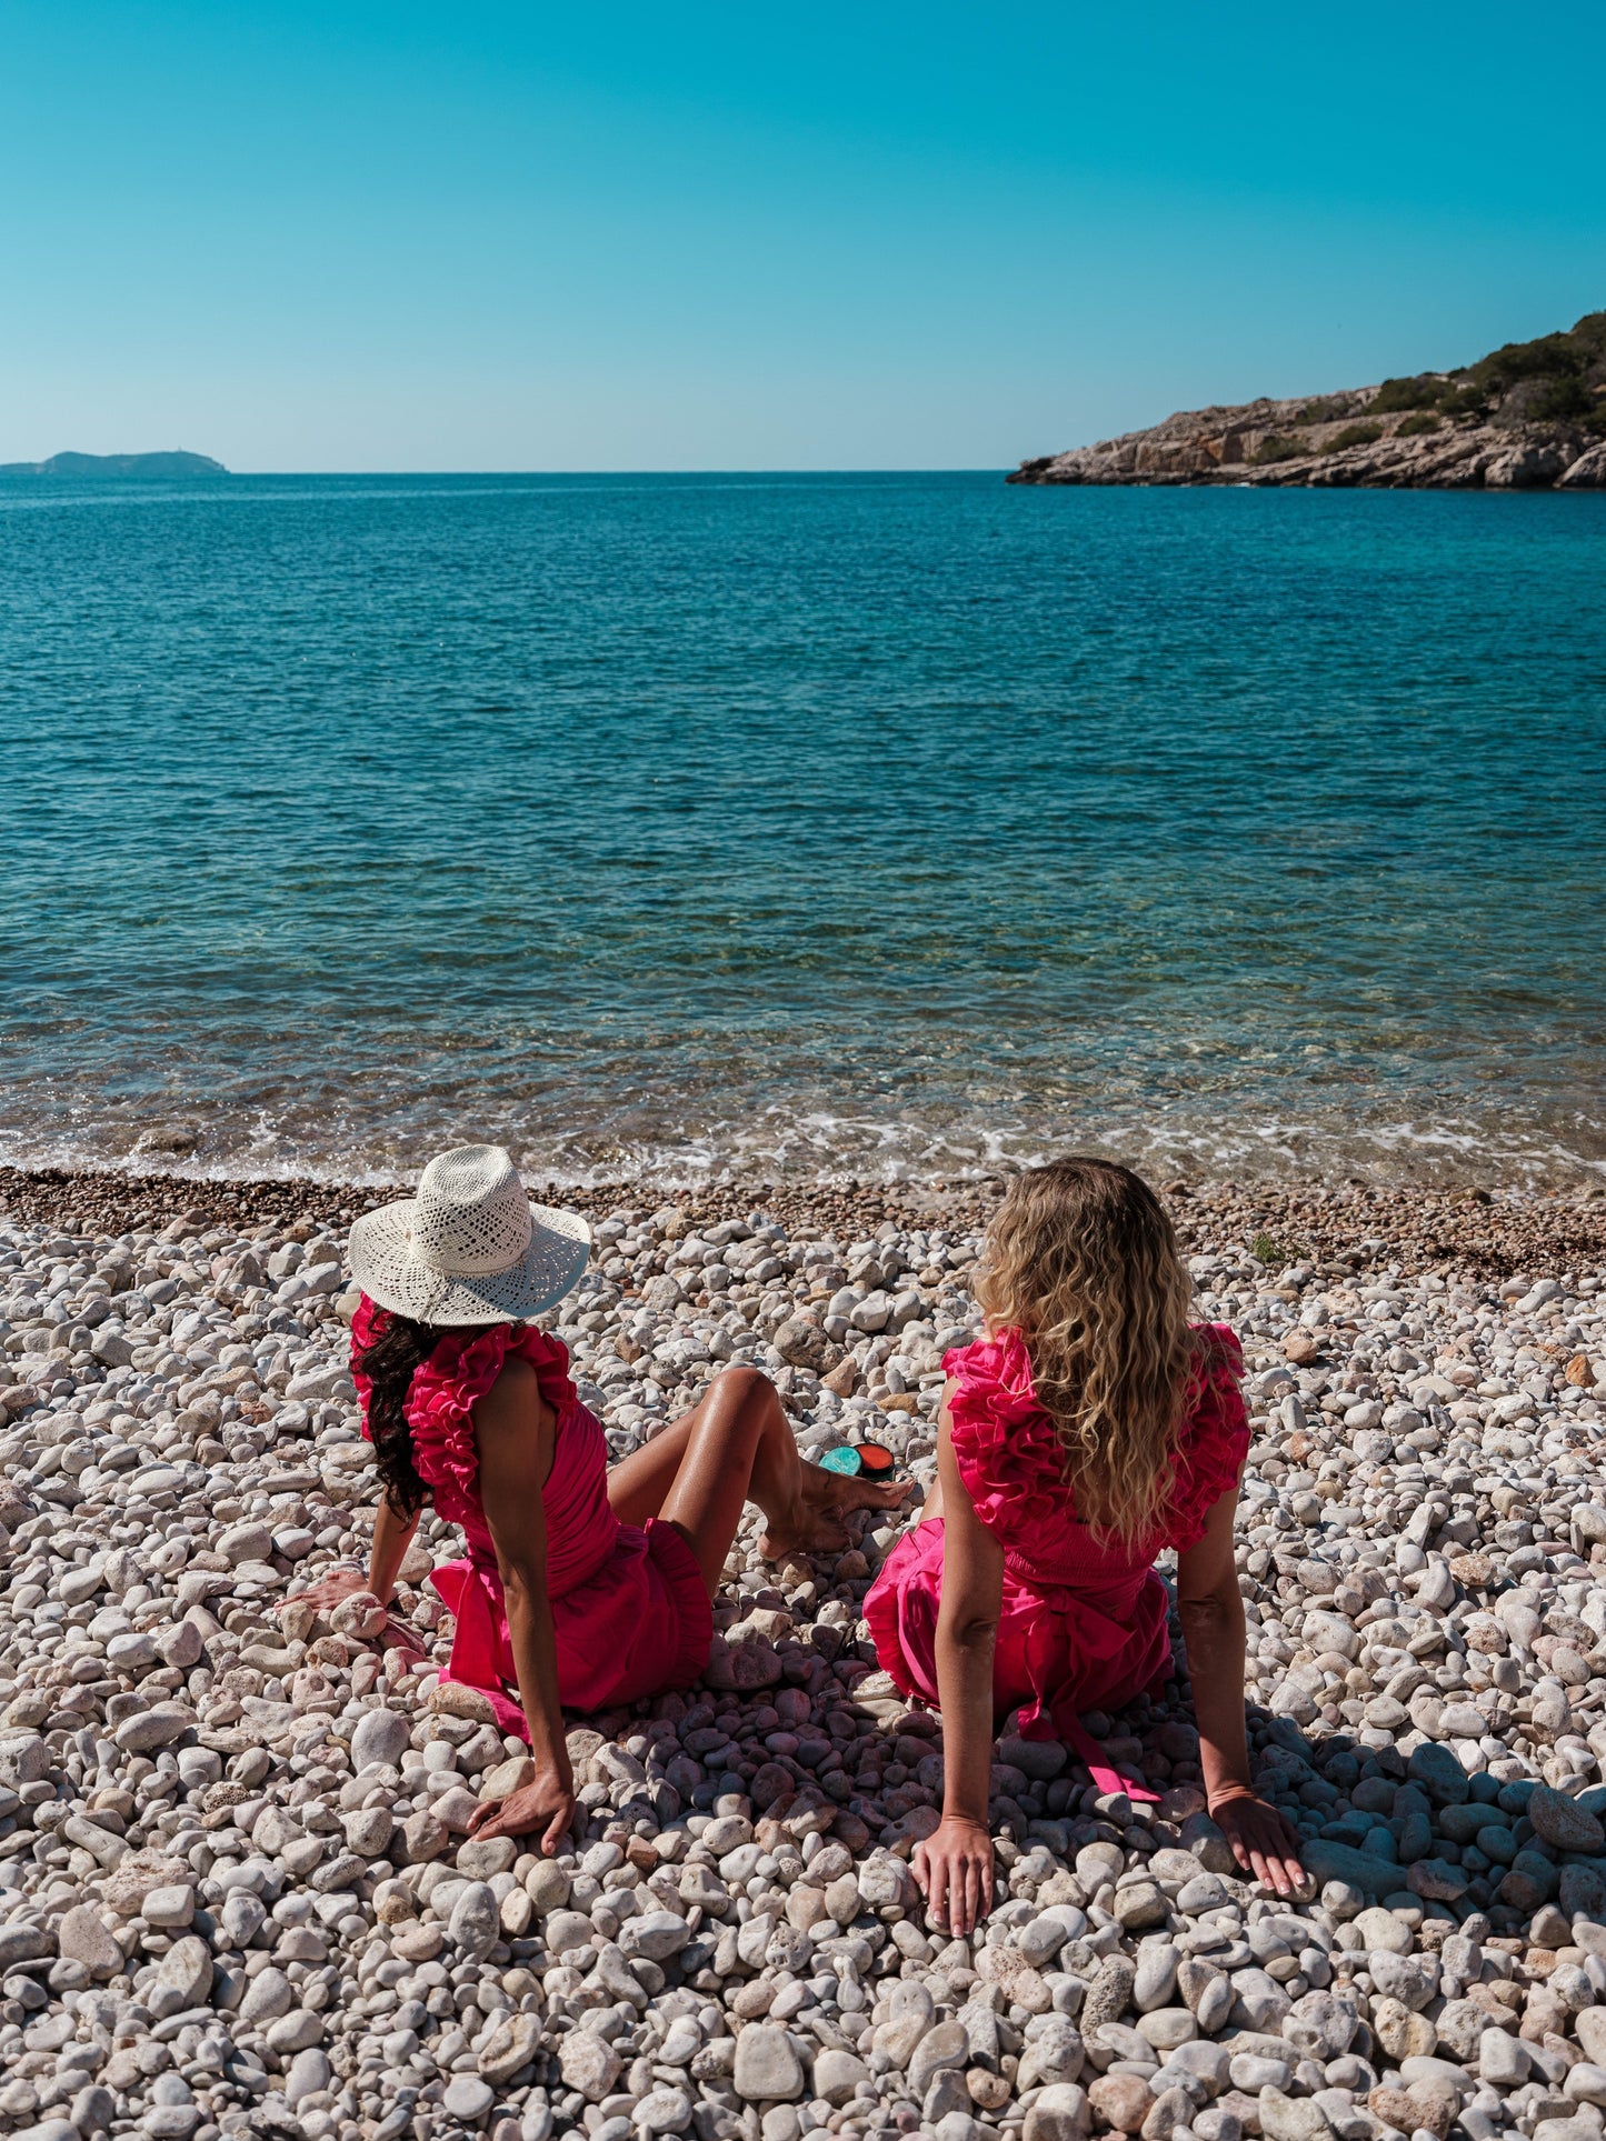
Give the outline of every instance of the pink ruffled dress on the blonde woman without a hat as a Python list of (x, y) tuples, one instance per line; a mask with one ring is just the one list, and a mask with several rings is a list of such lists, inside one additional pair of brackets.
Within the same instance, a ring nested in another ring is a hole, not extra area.
[[(1019, 1332), (981, 1338), (942, 1364), (953, 1377), (949, 1419), (959, 1477), (1004, 1548), (994, 1653), (998, 1721), (1019, 1706), (1024, 1738), (1075, 1747), (1101, 1792), (1156, 1796), (1109, 1766), (1079, 1711), (1120, 1706), (1165, 1676), (1169, 1601), (1154, 1559), (1203, 1537), (1210, 1507), (1233, 1490), (1248, 1454), (1244, 1355), (1225, 1323), (1208, 1325), (1208, 1336), (1188, 1392), (1167, 1520), (1133, 1550), (1099, 1546), (1077, 1518)], [(940, 1595), (942, 1518), (934, 1518), (904, 1533), (865, 1599), (882, 1670), (923, 1702), (938, 1700)]]

